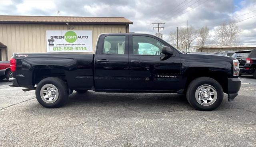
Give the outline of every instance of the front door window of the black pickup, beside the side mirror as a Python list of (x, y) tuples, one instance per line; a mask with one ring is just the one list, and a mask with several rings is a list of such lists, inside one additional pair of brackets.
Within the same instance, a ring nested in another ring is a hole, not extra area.
[(134, 55), (160, 55), (162, 47), (165, 46), (160, 41), (146, 36), (133, 36), (132, 44)]

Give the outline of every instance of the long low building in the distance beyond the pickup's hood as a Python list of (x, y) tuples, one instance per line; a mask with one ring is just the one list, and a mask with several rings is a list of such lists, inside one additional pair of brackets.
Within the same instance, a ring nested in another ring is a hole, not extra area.
[(192, 46), (190, 52), (206, 52), (214, 53), (219, 51), (244, 51), (249, 49), (256, 49), (256, 45), (205, 45), (203, 49), (200, 46)]

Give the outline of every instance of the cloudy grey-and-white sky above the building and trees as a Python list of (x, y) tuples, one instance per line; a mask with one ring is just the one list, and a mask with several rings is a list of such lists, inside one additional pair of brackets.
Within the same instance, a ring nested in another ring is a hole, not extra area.
[(214, 28), (236, 20), (243, 30), (240, 44), (256, 45), (256, 0), (0, 0), (0, 15), (125, 17), (130, 31), (155, 34), (151, 23), (162, 25), (164, 39), (176, 27)]

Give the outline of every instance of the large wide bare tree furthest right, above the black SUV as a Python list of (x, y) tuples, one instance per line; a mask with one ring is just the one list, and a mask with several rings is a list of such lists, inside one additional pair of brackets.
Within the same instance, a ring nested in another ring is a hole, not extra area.
[(242, 29), (238, 27), (236, 21), (220, 25), (215, 29), (215, 41), (217, 45), (237, 45), (239, 43), (239, 35)]

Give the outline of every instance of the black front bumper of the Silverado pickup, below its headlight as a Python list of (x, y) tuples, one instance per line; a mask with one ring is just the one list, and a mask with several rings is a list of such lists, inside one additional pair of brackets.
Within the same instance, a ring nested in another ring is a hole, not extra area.
[(238, 95), (238, 91), (241, 87), (240, 78), (228, 78), (228, 101), (232, 101)]

